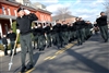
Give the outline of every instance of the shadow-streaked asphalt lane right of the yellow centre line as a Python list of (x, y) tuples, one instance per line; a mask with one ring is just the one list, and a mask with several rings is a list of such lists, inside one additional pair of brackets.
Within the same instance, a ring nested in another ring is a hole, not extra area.
[[(76, 47), (74, 48), (72, 47), (72, 49), (66, 50), (65, 51), (66, 54), (59, 56), (53, 60), (47, 60), (36, 65), (34, 72), (37, 73), (109, 73), (109, 68), (108, 68), (109, 53), (107, 51), (109, 50), (108, 44), (101, 44), (101, 41), (99, 41), (101, 40), (99, 34), (93, 35), (88, 40), (87, 42), (85, 42), (85, 45), (82, 46), (75, 45)], [(80, 50), (81, 52), (77, 52)], [(89, 58), (90, 56), (92, 59)], [(70, 59), (66, 58), (69, 60), (65, 60), (64, 57), (70, 57)]]

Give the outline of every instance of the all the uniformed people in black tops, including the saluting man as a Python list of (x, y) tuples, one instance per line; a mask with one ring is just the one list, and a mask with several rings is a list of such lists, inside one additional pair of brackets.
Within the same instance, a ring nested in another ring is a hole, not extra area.
[[(20, 8), (17, 10), (19, 17), (16, 19), (16, 28), (17, 34), (20, 34), (20, 44), (21, 44), (21, 62), (22, 69), (21, 72), (33, 69), (33, 47), (32, 41), (34, 41), (34, 49), (39, 51), (45, 50), (52, 46), (57, 46), (58, 49), (61, 49), (69, 42), (77, 40), (77, 45), (81, 46), (92, 35), (93, 31), (97, 34), (100, 31), (101, 36), (105, 42), (108, 41), (108, 24), (107, 16), (104, 12), (100, 13), (93, 26), (89, 21), (84, 21), (82, 17), (76, 17), (74, 23), (68, 23), (66, 21), (57, 20), (56, 23), (35, 23), (32, 28), (32, 22), (37, 21), (38, 17), (31, 13), (28, 10)], [(32, 36), (33, 34), (33, 36)], [(16, 34), (10, 29), (8, 35), (4, 35), (2, 42), (4, 46), (4, 54), (8, 54), (8, 41), (7, 38), (11, 41), (11, 52), (13, 53), (14, 44), (16, 42)], [(33, 38), (33, 39), (32, 39)], [(36, 46), (37, 45), (37, 46)], [(25, 58), (26, 52), (29, 53), (29, 64), (26, 66)], [(14, 48), (14, 54), (16, 54), (16, 49)]]

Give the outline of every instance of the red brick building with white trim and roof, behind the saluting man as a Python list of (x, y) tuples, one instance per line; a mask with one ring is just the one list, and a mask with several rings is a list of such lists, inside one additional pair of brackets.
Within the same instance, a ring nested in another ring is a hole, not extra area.
[(38, 21), (51, 22), (51, 12), (35, 9), (28, 5), (23, 5), (15, 1), (10, 0), (0, 0), (0, 34), (1, 36), (8, 33), (8, 29), (11, 28), (12, 22), (17, 17), (17, 9), (23, 7), (24, 9), (29, 10), (32, 13), (35, 13), (38, 16)]

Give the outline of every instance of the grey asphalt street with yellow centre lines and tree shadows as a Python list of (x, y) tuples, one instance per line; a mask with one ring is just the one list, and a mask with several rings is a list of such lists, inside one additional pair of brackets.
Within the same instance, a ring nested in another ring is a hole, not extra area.
[[(14, 56), (11, 71), (9, 62), (9, 56), (0, 57), (0, 73), (20, 73), (21, 52)], [(109, 41), (104, 42), (98, 34), (82, 46), (74, 40), (61, 49), (55, 46), (44, 51), (35, 49), (34, 69), (26, 73), (109, 73)]]

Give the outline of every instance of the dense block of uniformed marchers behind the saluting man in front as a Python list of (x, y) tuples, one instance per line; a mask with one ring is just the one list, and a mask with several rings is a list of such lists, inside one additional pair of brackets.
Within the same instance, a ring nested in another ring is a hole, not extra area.
[(83, 21), (81, 17), (76, 17), (75, 23), (66, 23), (65, 21), (56, 21), (56, 25), (51, 23), (36, 23), (33, 27), (34, 42), (37, 44), (39, 51), (47, 48), (57, 46), (58, 49), (64, 47), (69, 42), (77, 39), (77, 44), (82, 45), (92, 36), (93, 25), (89, 21)]

